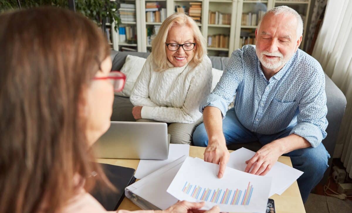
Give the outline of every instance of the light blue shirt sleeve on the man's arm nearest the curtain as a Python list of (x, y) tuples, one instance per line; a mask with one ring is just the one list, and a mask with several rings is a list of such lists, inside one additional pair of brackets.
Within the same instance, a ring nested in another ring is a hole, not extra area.
[(306, 92), (298, 104), (297, 124), (290, 134), (304, 137), (312, 147), (318, 147), (326, 137), (326, 93), (325, 74), (316, 71), (307, 85)]

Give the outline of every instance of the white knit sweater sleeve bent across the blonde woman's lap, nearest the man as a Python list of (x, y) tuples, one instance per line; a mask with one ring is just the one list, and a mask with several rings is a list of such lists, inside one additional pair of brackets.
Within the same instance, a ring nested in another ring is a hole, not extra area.
[(202, 114), (199, 112), (199, 104), (210, 93), (212, 85), (212, 64), (205, 56), (201, 64), (197, 65), (194, 77), (190, 80), (186, 99), (181, 108), (176, 107), (151, 107), (142, 108), (142, 118), (154, 119), (166, 123), (194, 123)]

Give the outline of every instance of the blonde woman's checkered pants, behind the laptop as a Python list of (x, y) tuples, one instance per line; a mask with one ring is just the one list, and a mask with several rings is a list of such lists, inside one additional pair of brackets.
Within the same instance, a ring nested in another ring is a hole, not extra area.
[[(137, 122), (161, 122), (152, 119), (139, 119)], [(190, 144), (196, 127), (203, 122), (203, 117), (194, 123), (167, 123), (170, 143)]]

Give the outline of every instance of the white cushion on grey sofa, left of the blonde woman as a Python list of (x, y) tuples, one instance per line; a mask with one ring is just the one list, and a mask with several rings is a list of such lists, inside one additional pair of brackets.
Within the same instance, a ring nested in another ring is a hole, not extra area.
[(120, 70), (126, 75), (125, 87), (121, 92), (115, 92), (115, 95), (130, 97), (134, 83), (136, 83), (136, 80), (142, 71), (145, 60), (145, 58), (127, 55), (125, 64)]

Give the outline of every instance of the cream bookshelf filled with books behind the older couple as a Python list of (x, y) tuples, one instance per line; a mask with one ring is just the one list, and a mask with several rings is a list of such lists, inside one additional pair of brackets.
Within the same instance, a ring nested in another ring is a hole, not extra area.
[[(208, 45), (209, 56), (229, 57), (235, 49), (242, 47), (242, 45), (254, 44), (254, 31), (256, 30), (260, 16), (268, 9), (280, 5), (287, 5), (302, 14), (304, 30), (300, 47), (303, 47), (310, 1), (311, 0), (120, 0), (118, 4), (136, 5), (136, 21), (125, 20), (120, 24), (120, 27), (136, 27), (137, 42), (136, 44), (131, 44), (131, 41), (121, 42), (119, 41), (119, 32), (116, 33), (111, 30), (112, 46), (115, 50), (121, 50), (121, 47), (125, 47), (135, 49), (139, 52), (151, 51), (151, 40), (153, 39), (155, 31), (157, 31), (158, 27), (162, 24), (162, 13), (164, 14), (164, 18), (166, 18), (172, 13), (175, 13), (178, 7), (183, 8), (185, 12), (189, 12), (189, 8), (192, 6), (190, 2), (197, 2), (201, 3), (201, 12), (196, 14), (200, 19), (197, 25), (200, 27), (203, 36), (208, 41), (209, 37), (212, 37), (212, 41), (213, 39), (218, 39), (218, 43), (220, 44), (225, 42), (225, 45)], [(157, 9), (153, 11), (151, 8)], [(161, 12), (161, 8), (164, 8), (163, 12)], [(155, 13), (156, 10), (159, 11), (158, 14)], [(194, 12), (197, 11), (193, 9), (191, 12), (193, 13), (192, 15), (194, 15)], [(215, 13), (216, 20), (214, 20), (213, 13)], [(251, 14), (251, 17), (249, 17), (249, 14)], [(160, 18), (156, 18), (156, 16), (160, 16)], [(114, 23), (112, 23), (110, 27), (113, 29)], [(225, 38), (224, 41), (224, 38), (216, 38), (216, 35), (224, 35), (227, 38)]]

